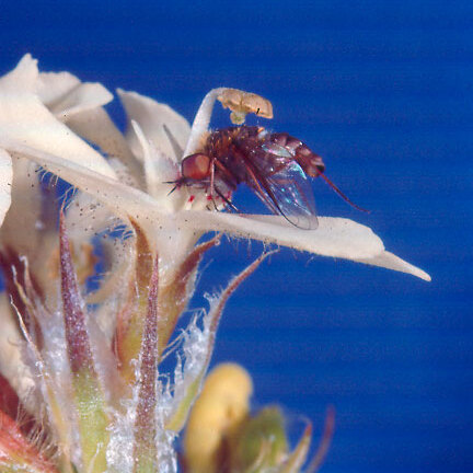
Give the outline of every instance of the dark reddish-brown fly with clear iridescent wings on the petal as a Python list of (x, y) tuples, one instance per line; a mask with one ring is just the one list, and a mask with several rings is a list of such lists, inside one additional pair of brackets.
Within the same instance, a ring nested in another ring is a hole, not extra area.
[(183, 159), (175, 185), (201, 188), (214, 203), (219, 198), (236, 210), (231, 195), (244, 183), (273, 214), (313, 230), (318, 219), (309, 177), (321, 176), (348, 204), (364, 210), (324, 171), (322, 158), (299, 139), (243, 125), (210, 132), (199, 152)]

